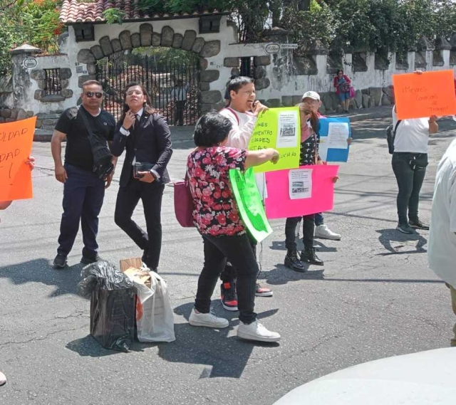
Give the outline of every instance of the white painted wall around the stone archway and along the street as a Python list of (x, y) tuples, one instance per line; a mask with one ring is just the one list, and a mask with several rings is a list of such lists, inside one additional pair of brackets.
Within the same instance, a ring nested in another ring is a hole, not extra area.
[[(198, 33), (198, 18), (195, 19), (180, 19), (169, 21), (152, 21), (153, 31), (160, 33), (164, 26), (170, 26), (174, 29), (175, 33), (180, 33), (182, 36), (186, 30), (194, 30)], [(69, 79), (70, 84), (68, 88), (73, 90), (73, 98), (68, 98), (63, 102), (39, 102), (33, 99), (33, 93), (38, 88), (34, 80), (33, 88), (31, 88), (31, 100), (27, 100), (28, 105), (24, 105), (24, 110), (33, 110), (33, 112), (48, 112), (49, 110), (62, 110), (66, 107), (76, 105), (76, 102), (81, 95), (78, 88), (78, 76), (87, 73), (76, 73), (76, 63), (78, 52), (81, 49), (88, 49), (91, 46), (98, 45), (98, 41), (103, 36), (109, 36), (110, 39), (118, 38), (120, 32), (124, 30), (130, 31), (130, 34), (139, 33), (141, 23), (123, 23), (118, 24), (95, 24), (95, 41), (93, 42), (79, 42), (77, 43), (74, 38), (73, 27), (68, 27), (68, 38), (61, 44), (61, 53), (63, 56), (41, 56), (38, 57), (37, 68), (66, 68), (70, 67), (72, 76)], [(232, 68), (224, 67), (224, 58), (228, 57), (241, 57), (241, 56), (264, 56), (267, 55), (264, 50), (266, 43), (256, 44), (239, 44), (235, 37), (235, 32), (232, 26), (227, 25), (227, 17), (222, 16), (220, 21), (220, 33), (211, 34), (197, 34), (197, 36), (204, 38), (205, 41), (219, 40), (221, 42), (221, 51), (217, 56), (208, 58), (207, 69), (217, 69), (220, 71), (220, 76), (217, 81), (210, 83), (211, 90), (220, 90), (222, 95), (224, 88), (231, 75)], [(452, 69), (456, 73), (456, 66), (450, 66), (450, 51), (443, 51), (445, 65), (432, 66), (432, 51), (427, 52), (427, 70), (442, 70)], [(302, 95), (304, 91), (316, 90), (319, 93), (333, 91), (333, 75), (326, 73), (326, 56), (317, 55), (316, 64), (318, 68), (317, 75), (292, 75), (292, 51), (281, 51), (277, 57), (281, 58), (281, 63), (274, 63), (274, 56), (271, 56), (271, 64), (267, 65), (266, 77), (271, 81), (269, 88), (259, 90), (257, 98), (261, 100), (269, 100), (272, 98), (281, 99), (284, 95)], [(350, 54), (345, 56), (346, 63), (351, 63), (352, 56)], [(415, 53), (409, 53), (409, 72), (414, 70)], [(388, 70), (375, 70), (374, 68), (374, 54), (368, 53), (367, 56), (368, 71), (367, 72), (353, 72), (350, 65), (346, 65), (345, 72), (353, 80), (353, 85), (357, 90), (369, 87), (385, 87), (392, 84), (391, 76), (395, 73), (405, 73), (405, 70), (396, 70), (395, 56), (393, 56)], [(86, 66), (83, 65), (83, 70)], [(281, 80), (274, 78), (274, 70), (281, 72)]]

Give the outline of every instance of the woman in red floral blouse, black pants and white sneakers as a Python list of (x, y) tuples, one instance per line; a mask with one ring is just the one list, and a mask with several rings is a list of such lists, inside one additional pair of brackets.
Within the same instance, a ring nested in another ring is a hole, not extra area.
[(279, 333), (261, 325), (254, 312), (259, 268), (232, 195), (229, 169), (244, 172), (264, 162), (277, 162), (279, 152), (275, 149), (247, 151), (227, 147), (231, 129), (232, 123), (226, 117), (207, 112), (197, 122), (194, 134), (197, 148), (187, 159), (190, 192), (195, 204), (193, 216), (204, 245), (204, 266), (189, 322), (193, 326), (228, 327), (228, 320), (210, 312), (210, 304), (217, 279), (229, 260), (237, 270), (237, 335), (247, 340), (277, 342)]

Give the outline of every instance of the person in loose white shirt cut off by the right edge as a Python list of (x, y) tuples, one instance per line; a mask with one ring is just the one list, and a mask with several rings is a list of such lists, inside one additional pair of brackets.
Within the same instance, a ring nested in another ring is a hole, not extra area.
[[(450, 288), (456, 315), (456, 140), (440, 160), (435, 176), (427, 258), (429, 267)], [(453, 332), (451, 346), (456, 347), (456, 324)]]

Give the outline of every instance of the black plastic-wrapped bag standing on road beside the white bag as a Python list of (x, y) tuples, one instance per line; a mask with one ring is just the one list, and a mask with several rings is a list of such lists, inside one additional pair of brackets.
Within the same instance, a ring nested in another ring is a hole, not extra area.
[(90, 335), (106, 349), (128, 352), (135, 336), (133, 282), (107, 261), (83, 268), (78, 293), (90, 297)]

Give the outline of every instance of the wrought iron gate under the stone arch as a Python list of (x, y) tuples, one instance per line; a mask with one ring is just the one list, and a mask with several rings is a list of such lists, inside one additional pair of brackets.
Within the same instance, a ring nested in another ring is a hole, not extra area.
[(169, 125), (195, 125), (200, 115), (199, 56), (160, 61), (154, 56), (120, 51), (97, 63), (97, 80), (105, 92), (105, 110), (118, 120), (123, 92), (130, 82), (145, 86), (154, 107)]

